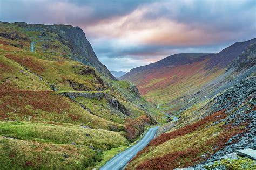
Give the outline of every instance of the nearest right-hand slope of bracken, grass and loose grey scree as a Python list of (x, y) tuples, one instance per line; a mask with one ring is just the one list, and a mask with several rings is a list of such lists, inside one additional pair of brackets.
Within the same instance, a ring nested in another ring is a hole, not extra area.
[[(251, 139), (255, 133), (255, 80), (252, 74), (212, 100), (185, 110), (178, 121), (161, 127), (158, 137), (126, 169), (193, 167), (219, 160), (236, 148), (255, 148)], [(255, 168), (246, 159), (237, 169), (245, 165)]]

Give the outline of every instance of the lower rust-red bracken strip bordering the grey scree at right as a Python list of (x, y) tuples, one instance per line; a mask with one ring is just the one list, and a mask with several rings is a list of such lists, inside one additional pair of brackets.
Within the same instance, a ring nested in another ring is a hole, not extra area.
[[(214, 116), (211, 115), (206, 117), (206, 121), (215, 116), (216, 115), (214, 114)], [(205, 144), (201, 145), (200, 147), (187, 148), (183, 151), (172, 152), (164, 155), (163, 157), (157, 157), (144, 161), (139, 164), (136, 169), (173, 169), (194, 166), (199, 162), (208, 159), (212, 154), (227, 146), (226, 143), (232, 136), (236, 134), (242, 136), (242, 134), (244, 134), (243, 132), (248, 131), (248, 129), (243, 128), (247, 125), (248, 122), (242, 123), (235, 127), (231, 127), (231, 125), (223, 125), (223, 133), (219, 133), (218, 136), (208, 139)], [(233, 143), (234, 142), (235, 141), (233, 141)], [(204, 157), (202, 157), (203, 154), (205, 155)]]

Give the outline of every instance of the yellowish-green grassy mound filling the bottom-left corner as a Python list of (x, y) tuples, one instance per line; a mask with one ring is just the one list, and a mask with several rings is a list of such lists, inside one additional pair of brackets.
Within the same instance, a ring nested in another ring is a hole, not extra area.
[(0, 154), (1, 169), (84, 169), (83, 162), (92, 158), (95, 151), (84, 145), (0, 137)]

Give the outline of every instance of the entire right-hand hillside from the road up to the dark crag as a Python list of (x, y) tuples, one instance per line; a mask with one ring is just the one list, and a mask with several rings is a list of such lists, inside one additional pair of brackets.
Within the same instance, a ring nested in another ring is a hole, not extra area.
[(197, 101), (194, 95), (179, 119), (161, 126), (157, 138), (126, 169), (255, 169), (250, 159), (219, 161), (236, 149), (255, 149), (255, 73), (255, 44), (251, 44), (210, 87), (200, 89), (207, 91), (206, 97)]

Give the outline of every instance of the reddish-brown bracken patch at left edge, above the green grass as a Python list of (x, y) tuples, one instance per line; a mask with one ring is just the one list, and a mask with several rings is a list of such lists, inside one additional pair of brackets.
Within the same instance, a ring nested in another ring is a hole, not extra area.
[[(32, 110), (61, 113), (69, 110), (69, 104), (53, 91), (19, 91), (15, 87), (0, 88), (0, 108), (3, 113), (30, 115)], [(6, 115), (1, 114), (1, 119)]]

